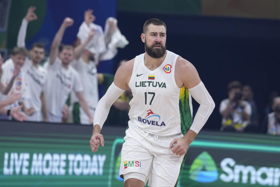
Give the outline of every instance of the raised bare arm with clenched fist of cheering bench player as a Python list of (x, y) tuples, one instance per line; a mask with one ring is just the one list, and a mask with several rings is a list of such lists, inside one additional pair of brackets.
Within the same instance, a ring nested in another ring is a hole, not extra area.
[(50, 46), (50, 65), (52, 65), (55, 62), (56, 57), (58, 56), (58, 47), (61, 44), (61, 40), (63, 38), (64, 32), (67, 27), (72, 26), (74, 23), (74, 20), (71, 18), (65, 18), (62, 25), (60, 26), (59, 30), (55, 34), (55, 38), (53, 39), (53, 43)]

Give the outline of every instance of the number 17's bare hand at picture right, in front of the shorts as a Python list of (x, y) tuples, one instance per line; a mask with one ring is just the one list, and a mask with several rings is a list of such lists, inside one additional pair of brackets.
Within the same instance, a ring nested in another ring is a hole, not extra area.
[[(176, 145), (174, 146), (175, 143)], [(187, 137), (183, 136), (182, 138), (174, 138), (169, 145), (169, 149), (171, 149), (174, 154), (183, 156), (187, 153), (189, 146), (190, 144), (188, 143)]]

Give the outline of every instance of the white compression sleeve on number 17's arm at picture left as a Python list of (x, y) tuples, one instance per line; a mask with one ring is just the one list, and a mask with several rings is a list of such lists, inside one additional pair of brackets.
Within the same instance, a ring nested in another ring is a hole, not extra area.
[(105, 95), (99, 100), (96, 106), (93, 117), (94, 125), (99, 124), (99, 126), (102, 128), (105, 120), (107, 119), (111, 106), (120, 97), (120, 95), (122, 95), (123, 92), (124, 90), (116, 86), (114, 82), (111, 84)]

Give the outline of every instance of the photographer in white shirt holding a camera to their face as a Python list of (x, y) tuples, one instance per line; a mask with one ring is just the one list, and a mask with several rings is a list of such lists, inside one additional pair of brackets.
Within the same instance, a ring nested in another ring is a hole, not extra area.
[(227, 88), (228, 98), (220, 103), (223, 117), (221, 131), (243, 132), (250, 122), (251, 105), (242, 99), (242, 84), (239, 81), (230, 82)]

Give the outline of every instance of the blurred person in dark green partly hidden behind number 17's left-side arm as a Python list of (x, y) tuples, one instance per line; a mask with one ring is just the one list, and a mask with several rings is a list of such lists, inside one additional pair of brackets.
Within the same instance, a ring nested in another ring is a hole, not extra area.
[[(127, 60), (121, 60), (118, 67), (126, 63)], [(98, 73), (98, 83), (104, 85), (104, 93), (114, 81), (114, 75), (107, 73)], [(127, 126), (129, 121), (129, 101), (132, 99), (131, 89), (128, 88), (112, 105), (108, 117), (104, 124)]]

